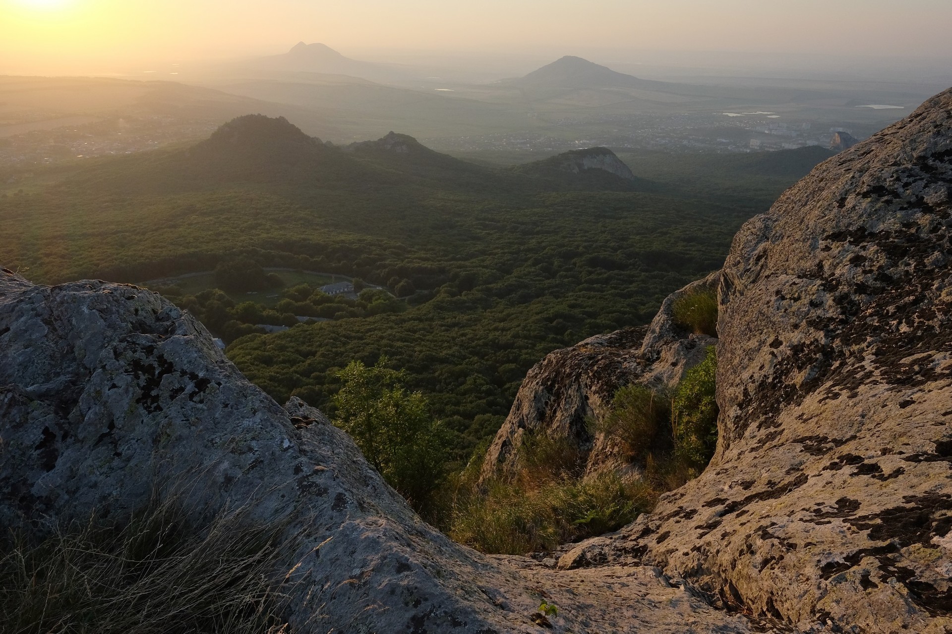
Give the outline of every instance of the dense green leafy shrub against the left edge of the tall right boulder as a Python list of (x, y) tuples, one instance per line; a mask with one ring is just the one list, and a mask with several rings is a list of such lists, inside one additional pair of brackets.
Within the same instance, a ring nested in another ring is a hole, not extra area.
[(704, 361), (684, 373), (671, 399), (676, 451), (697, 472), (704, 470), (717, 447), (716, 375), (717, 349), (710, 346)]

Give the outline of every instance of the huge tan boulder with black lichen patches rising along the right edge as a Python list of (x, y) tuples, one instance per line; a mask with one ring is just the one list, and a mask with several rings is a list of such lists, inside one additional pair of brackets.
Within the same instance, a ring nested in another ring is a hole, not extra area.
[(950, 631), (950, 237), (952, 90), (744, 225), (711, 466), (560, 566), (644, 560), (800, 628)]

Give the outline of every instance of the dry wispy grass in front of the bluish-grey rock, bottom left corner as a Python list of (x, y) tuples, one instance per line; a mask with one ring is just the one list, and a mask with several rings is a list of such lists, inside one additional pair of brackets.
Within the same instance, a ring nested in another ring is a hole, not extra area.
[(274, 574), (283, 526), (244, 511), (201, 525), (174, 502), (118, 524), (95, 514), (0, 536), (4, 634), (284, 634), (287, 587)]

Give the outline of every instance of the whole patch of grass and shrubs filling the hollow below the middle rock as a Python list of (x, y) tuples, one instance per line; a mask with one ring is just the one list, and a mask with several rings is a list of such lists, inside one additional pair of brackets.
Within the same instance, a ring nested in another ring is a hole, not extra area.
[(615, 393), (594, 431), (622, 447), (642, 477), (613, 471), (584, 477), (585, 456), (565, 438), (543, 434), (523, 443), (518, 471), (476, 487), (482, 455), (457, 481), (449, 535), (484, 552), (525, 554), (551, 550), (622, 528), (653, 509), (668, 490), (697, 477), (717, 446), (717, 351), (684, 374), (673, 394), (643, 385)]

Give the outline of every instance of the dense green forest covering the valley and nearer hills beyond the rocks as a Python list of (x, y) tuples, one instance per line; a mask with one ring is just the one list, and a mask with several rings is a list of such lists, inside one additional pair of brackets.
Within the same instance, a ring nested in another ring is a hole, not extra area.
[[(647, 322), (828, 156), (619, 154), (636, 180), (468, 163), (402, 135), (334, 147), (245, 117), (194, 146), (0, 186), (0, 263), (48, 283), (141, 283), (243, 261), (384, 286), (349, 299), (275, 289), (268, 308), (160, 290), (225, 336), (228, 356), (280, 401), (298, 395), (333, 415), (338, 373), (386, 355), (462, 465), (542, 356)], [(265, 335), (255, 323), (294, 325)]]

